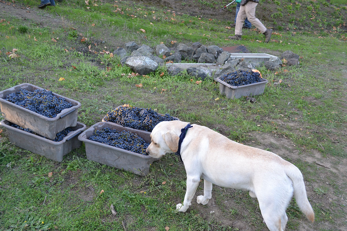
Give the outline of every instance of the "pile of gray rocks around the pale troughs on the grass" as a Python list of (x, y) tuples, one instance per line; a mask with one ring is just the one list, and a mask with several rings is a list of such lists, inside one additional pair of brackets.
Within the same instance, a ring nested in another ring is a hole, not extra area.
[[(176, 49), (170, 50), (165, 44), (158, 44), (153, 49), (145, 44), (139, 46), (132, 41), (125, 44), (125, 49), (121, 47), (117, 48), (113, 51), (113, 54), (119, 56), (122, 65), (129, 66), (132, 71), (141, 75), (154, 72), (159, 65), (163, 65), (164, 63), (180, 63), (182, 60), (219, 64), (220, 68), (215, 71), (214, 78), (228, 72), (256, 69), (259, 66), (259, 64), (249, 63), (243, 59), (231, 57), (229, 52), (223, 51), (222, 48), (216, 45), (206, 47), (200, 42), (195, 42), (192, 46), (180, 43)], [(159, 56), (162, 56), (163, 59)], [(299, 55), (291, 51), (286, 51), (280, 58), (276, 56), (271, 57), (269, 61), (262, 63), (262, 65), (269, 70), (276, 70), (282, 66), (282, 60), (286, 65), (297, 65), (299, 64)], [(177, 75), (181, 71), (184, 71), (184, 69), (175, 65), (168, 66), (167, 70), (172, 75)], [(204, 66), (190, 67), (186, 70), (189, 75), (200, 77), (202, 80), (213, 75), (213, 71)]]

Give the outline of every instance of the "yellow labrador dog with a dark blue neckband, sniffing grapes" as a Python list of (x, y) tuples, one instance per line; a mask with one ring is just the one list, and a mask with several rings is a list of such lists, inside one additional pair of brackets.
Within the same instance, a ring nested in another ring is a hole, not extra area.
[[(296, 166), (272, 152), (229, 140), (208, 127), (192, 124), (185, 128), (187, 124), (160, 122), (154, 127), (152, 142), (146, 149), (154, 158), (180, 152), (187, 172), (187, 191), (183, 204), (176, 205), (178, 211), (187, 211), (203, 178), (204, 195), (197, 197), (198, 204), (209, 202), (212, 184), (247, 190), (251, 197), (258, 199), (269, 230), (283, 231), (288, 221), (286, 208), (294, 192), (298, 207), (313, 222), (314, 213), (307, 199), (303, 176)], [(181, 133), (186, 136), (179, 144)]]

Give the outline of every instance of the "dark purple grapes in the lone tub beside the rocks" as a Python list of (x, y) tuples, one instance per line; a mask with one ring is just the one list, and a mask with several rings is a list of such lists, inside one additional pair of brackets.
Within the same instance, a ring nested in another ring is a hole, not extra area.
[(260, 77), (259, 72), (254, 72), (251, 70), (237, 70), (222, 75), (222, 77), (220, 77), (220, 80), (228, 83), (231, 86), (242, 86), (261, 82), (262, 78)]

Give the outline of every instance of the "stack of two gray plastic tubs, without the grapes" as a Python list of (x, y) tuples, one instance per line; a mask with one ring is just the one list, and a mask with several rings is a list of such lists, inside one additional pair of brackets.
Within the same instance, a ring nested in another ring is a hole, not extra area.
[[(82, 142), (77, 139), (77, 136), (86, 129), (84, 124), (77, 122), (77, 112), (81, 103), (52, 93), (53, 96), (64, 98), (65, 101), (72, 104), (72, 107), (63, 109), (56, 117), (49, 118), (6, 100), (7, 96), (17, 93), (21, 89), (31, 92), (36, 89), (44, 90), (35, 85), (23, 83), (1, 91), (0, 107), (4, 119), (0, 125), (7, 128), (10, 142), (19, 148), (61, 162), (63, 156), (82, 145)], [(11, 126), (13, 124), (36, 134)], [(68, 127), (72, 130), (71, 132), (61, 141), (53, 141), (57, 133)]]

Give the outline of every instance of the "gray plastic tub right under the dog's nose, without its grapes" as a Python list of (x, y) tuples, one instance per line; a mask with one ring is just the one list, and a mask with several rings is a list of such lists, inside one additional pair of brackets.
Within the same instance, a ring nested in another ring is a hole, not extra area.
[(116, 148), (111, 145), (88, 140), (89, 137), (93, 135), (94, 130), (102, 130), (104, 127), (109, 127), (113, 130), (116, 129), (120, 132), (125, 130), (136, 133), (147, 143), (151, 143), (149, 132), (130, 127), (123, 127), (112, 122), (98, 122), (78, 136), (78, 140), (83, 141), (85, 144), (87, 159), (118, 169), (130, 171), (137, 175), (145, 176), (149, 172), (153, 161), (158, 159), (125, 149)]

